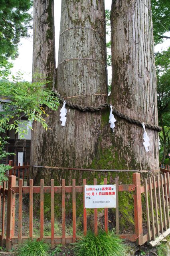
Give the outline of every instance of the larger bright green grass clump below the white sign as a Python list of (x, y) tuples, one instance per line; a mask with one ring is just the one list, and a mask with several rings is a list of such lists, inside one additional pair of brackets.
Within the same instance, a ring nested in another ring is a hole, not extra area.
[(74, 245), (75, 256), (126, 256), (127, 246), (113, 231), (108, 234), (99, 230), (95, 236), (90, 230), (87, 236)]

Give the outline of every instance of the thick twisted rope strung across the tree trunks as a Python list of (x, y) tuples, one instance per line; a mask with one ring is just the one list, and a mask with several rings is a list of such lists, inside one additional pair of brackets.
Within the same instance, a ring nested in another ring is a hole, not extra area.
[[(53, 92), (55, 93), (55, 95), (57, 96), (57, 98), (61, 101), (61, 102), (64, 102), (64, 98), (61, 97), (61, 95), (59, 94), (59, 92), (53, 88)], [(110, 104), (109, 103), (103, 103), (97, 107), (93, 107), (93, 106), (81, 106), (79, 104), (75, 104), (75, 103), (72, 103), (68, 100), (65, 100), (66, 102), (66, 105), (69, 106), (70, 108), (74, 108), (74, 109), (77, 109), (81, 112), (96, 112), (96, 111), (100, 111), (100, 110), (103, 110), (104, 108), (110, 108)], [(120, 118), (122, 119), (125, 119), (127, 122), (131, 123), (131, 124), (137, 124), (139, 126), (142, 126), (142, 124), (144, 122), (141, 122), (140, 120), (137, 120), (137, 119), (133, 119), (133, 118), (130, 118), (129, 116), (125, 115), (125, 114), (122, 114), (121, 112), (119, 112), (115, 107), (113, 107), (113, 113), (116, 115), (116, 116), (119, 116)], [(157, 132), (160, 132), (162, 130), (162, 128), (160, 126), (156, 126), (154, 124), (146, 124), (144, 123), (145, 127), (150, 129), (150, 130), (156, 130)]]

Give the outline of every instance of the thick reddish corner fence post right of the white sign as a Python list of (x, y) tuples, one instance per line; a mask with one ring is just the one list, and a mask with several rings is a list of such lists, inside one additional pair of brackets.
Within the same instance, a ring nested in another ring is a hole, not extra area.
[(142, 228), (142, 200), (140, 191), (140, 173), (133, 173), (134, 190), (134, 229), (137, 236), (137, 244), (143, 244), (143, 228)]

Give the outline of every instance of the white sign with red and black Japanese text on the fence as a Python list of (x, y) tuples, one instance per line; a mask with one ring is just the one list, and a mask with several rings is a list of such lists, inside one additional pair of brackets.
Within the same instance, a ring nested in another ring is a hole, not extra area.
[(116, 185), (85, 185), (85, 208), (116, 208)]

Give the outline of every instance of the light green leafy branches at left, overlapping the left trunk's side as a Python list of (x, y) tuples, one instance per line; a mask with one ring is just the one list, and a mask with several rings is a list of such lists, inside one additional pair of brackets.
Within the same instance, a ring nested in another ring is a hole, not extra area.
[(13, 78), (12, 82), (0, 80), (0, 95), (11, 100), (9, 103), (3, 103), (3, 111), (0, 112), (0, 132), (15, 129), (20, 138), (24, 137), (24, 134), (28, 133), (27, 124), (23, 128), (19, 127), (19, 124), (23, 124), (20, 121), (23, 115), (30, 122), (40, 122), (47, 130), (48, 126), (44, 119), (48, 116), (47, 107), (57, 110), (59, 102), (51, 90), (44, 89), (44, 84), (47, 84), (47, 81), (42, 81), (42, 77), (34, 83), (21, 81), (20, 76)]

